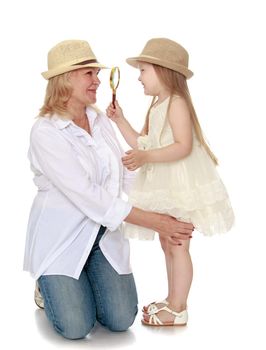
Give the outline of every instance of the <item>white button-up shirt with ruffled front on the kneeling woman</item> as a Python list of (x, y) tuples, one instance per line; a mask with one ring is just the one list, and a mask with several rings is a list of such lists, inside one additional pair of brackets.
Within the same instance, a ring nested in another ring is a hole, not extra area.
[(100, 225), (106, 259), (119, 274), (131, 272), (129, 244), (120, 225), (132, 206), (121, 199), (134, 174), (122, 165), (123, 151), (109, 119), (87, 108), (92, 136), (58, 115), (39, 117), (32, 127), (29, 159), (38, 187), (30, 212), (24, 270), (78, 279)]

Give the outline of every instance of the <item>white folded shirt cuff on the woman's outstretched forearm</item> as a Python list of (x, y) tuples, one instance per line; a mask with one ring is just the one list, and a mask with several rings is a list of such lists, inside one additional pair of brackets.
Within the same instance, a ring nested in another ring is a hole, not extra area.
[(132, 209), (132, 205), (120, 198), (114, 198), (112, 204), (103, 217), (103, 226), (111, 232), (115, 231), (124, 221)]

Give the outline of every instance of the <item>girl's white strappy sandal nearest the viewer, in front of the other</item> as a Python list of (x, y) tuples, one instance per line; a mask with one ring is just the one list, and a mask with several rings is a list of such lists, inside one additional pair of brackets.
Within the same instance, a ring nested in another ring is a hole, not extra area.
[[(174, 320), (171, 322), (161, 321), (157, 315), (159, 311), (169, 312), (170, 314), (175, 316)], [(169, 309), (169, 307), (167, 307), (167, 306), (164, 306), (161, 309), (158, 309), (158, 311), (151, 313), (149, 316), (150, 316), (149, 321), (146, 321), (145, 319), (141, 320), (142, 324), (144, 324), (146, 326), (153, 326), (153, 327), (185, 326), (187, 324), (187, 321), (188, 321), (187, 310), (183, 310), (181, 312), (176, 312), (176, 311)]]

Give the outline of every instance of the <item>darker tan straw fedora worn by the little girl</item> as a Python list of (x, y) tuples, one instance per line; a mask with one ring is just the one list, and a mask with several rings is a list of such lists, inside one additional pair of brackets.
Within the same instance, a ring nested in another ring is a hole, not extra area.
[(139, 62), (157, 64), (183, 74), (187, 79), (193, 72), (188, 69), (188, 52), (175, 41), (166, 38), (154, 38), (147, 42), (141, 54), (126, 61), (138, 68)]

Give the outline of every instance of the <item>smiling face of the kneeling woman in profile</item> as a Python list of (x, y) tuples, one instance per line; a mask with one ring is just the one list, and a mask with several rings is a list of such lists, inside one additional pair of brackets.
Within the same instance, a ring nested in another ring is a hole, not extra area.
[(88, 106), (96, 102), (97, 89), (101, 83), (98, 78), (99, 72), (99, 68), (81, 68), (71, 72), (72, 103)]

